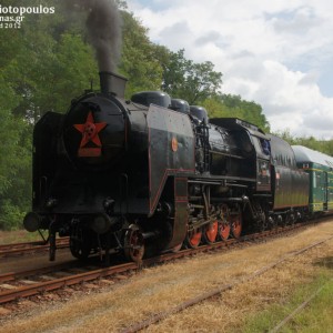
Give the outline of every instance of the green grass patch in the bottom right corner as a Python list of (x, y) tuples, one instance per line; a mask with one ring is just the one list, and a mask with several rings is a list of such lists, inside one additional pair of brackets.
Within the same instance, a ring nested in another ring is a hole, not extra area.
[(242, 332), (270, 332), (312, 295), (317, 294), (276, 332), (333, 332), (333, 274), (320, 270), (312, 283), (297, 285), (286, 300), (245, 321)]

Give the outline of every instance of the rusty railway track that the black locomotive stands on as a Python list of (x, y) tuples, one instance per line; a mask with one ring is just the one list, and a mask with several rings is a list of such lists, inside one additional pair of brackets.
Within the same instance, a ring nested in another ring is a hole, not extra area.
[[(312, 223), (309, 223), (312, 224)], [(29, 297), (42, 292), (49, 292), (68, 285), (79, 284), (87, 281), (114, 276), (119, 273), (131, 272), (141, 266), (151, 266), (153, 264), (185, 258), (200, 252), (226, 249), (236, 244), (248, 244), (249, 242), (262, 239), (273, 238), (289, 233), (293, 230), (307, 226), (309, 224), (294, 224), (286, 228), (279, 228), (263, 233), (255, 233), (241, 238), (231, 239), (226, 242), (219, 242), (212, 245), (203, 245), (195, 250), (183, 250), (175, 253), (168, 253), (143, 260), (140, 264), (130, 262), (111, 268), (82, 266), (79, 263), (61, 264), (51, 268), (30, 270), (24, 272), (6, 273), (0, 275), (0, 304), (4, 304), (21, 297)], [(221, 291), (219, 291), (221, 292)]]

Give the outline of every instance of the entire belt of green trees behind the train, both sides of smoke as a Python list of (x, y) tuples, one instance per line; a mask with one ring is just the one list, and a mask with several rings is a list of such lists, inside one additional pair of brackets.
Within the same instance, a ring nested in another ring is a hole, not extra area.
[[(99, 89), (84, 13), (68, 10), (65, 0), (42, 2), (56, 7), (56, 13), (28, 14), (21, 29), (0, 29), (0, 229), (19, 226), (30, 206), (33, 124), (47, 111), (65, 112), (71, 99), (91, 82)], [(261, 105), (220, 92), (222, 73), (212, 62), (195, 63), (184, 50), (172, 52), (154, 44), (125, 1), (117, 3), (123, 19), (119, 72), (129, 79), (127, 98), (161, 89), (190, 104), (202, 104), (211, 118), (238, 117), (270, 130)], [(40, 4), (29, 1), (31, 7)], [(1, 6), (20, 7), (22, 1), (2, 0)], [(333, 141), (286, 139), (333, 154)]]

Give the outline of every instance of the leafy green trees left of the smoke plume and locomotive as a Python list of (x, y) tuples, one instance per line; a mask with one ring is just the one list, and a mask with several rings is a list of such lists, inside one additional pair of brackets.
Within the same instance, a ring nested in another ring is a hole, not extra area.
[[(64, 9), (64, 1), (54, 1)], [(1, 4), (20, 7), (21, 1)], [(97, 75), (84, 33), (78, 34), (77, 21), (69, 23), (65, 16), (64, 10), (29, 14), (21, 29), (0, 31), (0, 229), (21, 225), (31, 204), (32, 124), (47, 111), (65, 112)]]

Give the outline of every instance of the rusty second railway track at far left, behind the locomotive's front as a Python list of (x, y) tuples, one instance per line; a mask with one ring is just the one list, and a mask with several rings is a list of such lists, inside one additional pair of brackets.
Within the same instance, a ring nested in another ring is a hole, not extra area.
[[(69, 246), (69, 238), (58, 239), (57, 248), (64, 249)], [(49, 250), (49, 243), (40, 242), (24, 242), (0, 245), (0, 258), (16, 256), (29, 254), (34, 252), (42, 252)]]

